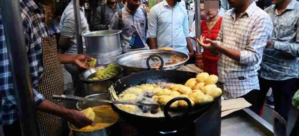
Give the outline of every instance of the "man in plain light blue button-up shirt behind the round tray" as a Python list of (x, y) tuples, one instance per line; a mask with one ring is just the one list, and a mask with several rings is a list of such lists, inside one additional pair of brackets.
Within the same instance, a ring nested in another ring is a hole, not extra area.
[(188, 28), (187, 10), (178, 2), (164, 0), (149, 11), (149, 48), (172, 47), (194, 55)]

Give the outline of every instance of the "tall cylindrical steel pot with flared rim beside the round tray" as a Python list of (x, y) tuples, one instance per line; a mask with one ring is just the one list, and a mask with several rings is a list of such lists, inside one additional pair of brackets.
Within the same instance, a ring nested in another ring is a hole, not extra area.
[(97, 59), (97, 65), (115, 63), (122, 54), (120, 44), (121, 30), (102, 30), (82, 34), (86, 44), (86, 54)]

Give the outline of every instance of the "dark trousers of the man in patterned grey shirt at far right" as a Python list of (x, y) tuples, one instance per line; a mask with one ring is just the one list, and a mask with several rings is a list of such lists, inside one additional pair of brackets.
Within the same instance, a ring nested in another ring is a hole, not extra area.
[[(287, 80), (268, 80), (259, 78), (260, 81), (260, 97), (266, 99), (266, 94), (269, 88), (272, 88), (273, 98), (274, 98), (274, 110), (288, 121), (288, 115), (290, 106), (292, 104), (293, 91), (295, 89), (296, 78)], [(263, 107), (264, 102), (259, 105)], [(275, 133), (277, 135), (286, 135), (286, 126), (282, 126), (278, 121), (275, 120)]]

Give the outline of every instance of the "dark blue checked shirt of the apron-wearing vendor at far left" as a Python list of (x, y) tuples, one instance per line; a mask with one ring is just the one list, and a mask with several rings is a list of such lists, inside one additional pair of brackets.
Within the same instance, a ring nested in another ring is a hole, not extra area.
[[(36, 104), (39, 104), (45, 100), (45, 97), (38, 92), (38, 84), (44, 71), (42, 63), (42, 37), (48, 36), (45, 24), (45, 11), (40, 9), (33, 0), (20, 0), (20, 7), (33, 96)], [(34, 21), (31, 12), (39, 20), (39, 27), (36, 21)], [(2, 96), (0, 123), (5, 126), (17, 120), (18, 113), (2, 21), (2, 16), (0, 15), (0, 90)]]

